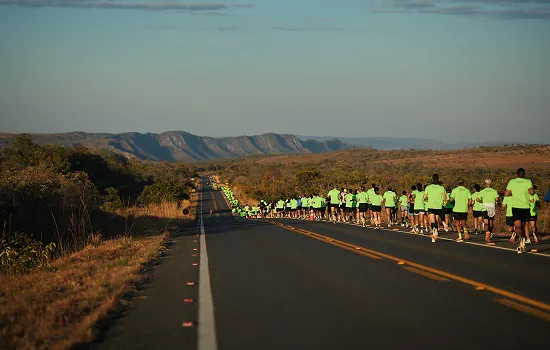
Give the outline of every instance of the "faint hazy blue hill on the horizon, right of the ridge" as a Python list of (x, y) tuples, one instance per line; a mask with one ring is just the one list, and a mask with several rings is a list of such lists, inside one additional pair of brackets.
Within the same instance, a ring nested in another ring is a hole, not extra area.
[[(301, 140), (316, 140), (326, 141), (333, 140), (335, 137), (330, 136), (298, 136)], [(484, 142), (484, 143), (446, 143), (439, 140), (419, 139), (419, 138), (398, 138), (398, 137), (339, 137), (338, 140), (354, 146), (372, 147), (381, 150), (393, 149), (426, 149), (426, 150), (443, 150), (443, 149), (459, 149), (479, 146), (503, 146), (503, 145), (519, 145), (520, 142)]]

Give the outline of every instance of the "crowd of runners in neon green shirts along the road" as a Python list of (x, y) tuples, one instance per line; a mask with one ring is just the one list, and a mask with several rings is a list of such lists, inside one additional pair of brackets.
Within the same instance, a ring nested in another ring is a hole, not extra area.
[(368, 189), (365, 186), (352, 189), (335, 185), (326, 194), (303, 195), (272, 203), (261, 200), (257, 206), (246, 204), (242, 207), (229, 187), (220, 188), (233, 213), (243, 218), (324, 220), (363, 227), (369, 225), (375, 229), (382, 225), (401, 226), (410, 228), (413, 233), (431, 235), (434, 243), (441, 230), (457, 232), (457, 242), (468, 240), (467, 221), (471, 211), (474, 233), (484, 233), (486, 242), (492, 244), (496, 209), (502, 206), (506, 209), (506, 217), (502, 219), (512, 233), (510, 240), (517, 243), (517, 252), (523, 253), (526, 244), (531, 243), (531, 236), (538, 242), (540, 200), (537, 187), (525, 178), (525, 170), (520, 168), (516, 174), (502, 194), (492, 188), (491, 179), (484, 181), (483, 188), (476, 184), (470, 190), (461, 179), (455, 188), (443, 187), (439, 175), (434, 174), (431, 183), (417, 183), (401, 191), (391, 185), (382, 189), (374, 183)]

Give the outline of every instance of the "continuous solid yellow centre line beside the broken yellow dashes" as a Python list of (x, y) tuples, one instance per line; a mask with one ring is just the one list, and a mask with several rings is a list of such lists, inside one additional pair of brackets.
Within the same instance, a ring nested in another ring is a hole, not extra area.
[[(465, 278), (465, 277), (461, 277), (461, 276), (458, 276), (458, 275), (455, 275), (455, 274), (452, 274), (452, 273), (449, 273), (449, 272), (441, 271), (441, 270), (438, 270), (436, 268), (432, 268), (432, 267), (429, 267), (429, 266), (417, 264), (417, 263), (414, 263), (412, 261), (408, 261), (408, 260), (405, 260), (405, 259), (395, 257), (393, 255), (378, 252), (376, 250), (368, 249), (368, 248), (365, 248), (365, 247), (359, 247), (356, 244), (351, 244), (351, 243), (348, 243), (348, 242), (340, 241), (338, 239), (323, 236), (321, 234), (318, 234), (318, 233), (315, 233), (315, 232), (312, 232), (312, 231), (308, 231), (308, 230), (304, 230), (304, 229), (291, 229), (290, 227), (287, 227), (286, 225), (284, 225), (282, 223), (278, 223), (278, 222), (275, 222), (275, 225), (278, 225), (282, 228), (285, 228), (285, 229), (293, 231), (293, 232), (298, 232), (300, 234), (307, 235), (307, 237), (315, 238), (319, 241), (323, 241), (323, 242), (328, 243), (328, 244), (332, 244), (332, 245), (339, 246), (341, 248), (344, 248), (344, 249), (347, 249), (347, 250), (350, 250), (350, 251), (354, 251), (354, 252), (356, 252), (358, 254), (361, 254), (361, 255), (365, 255), (365, 253), (369, 253), (370, 255), (378, 256), (378, 257), (381, 257), (381, 258), (386, 258), (388, 260), (393, 260), (393, 261), (396, 261), (398, 263), (399, 262), (404, 262), (408, 266), (415, 267), (417, 269), (423, 270), (425, 272), (429, 272), (429, 273), (434, 274), (434, 275), (438, 275), (440, 277), (444, 277), (444, 278), (447, 278), (447, 279), (450, 279), (450, 280), (454, 280), (454, 281), (458, 281), (458, 282), (461, 282), (461, 283), (464, 283), (464, 284), (471, 285), (471, 286), (473, 286), (474, 288), (476, 288), (478, 290), (481, 290), (480, 288), (485, 288), (485, 290), (490, 291), (490, 292), (495, 293), (495, 294), (498, 294), (500, 296), (503, 296), (503, 297), (506, 297), (506, 298), (509, 298), (509, 299), (512, 299), (512, 300), (515, 300), (515, 301), (519, 301), (519, 302), (522, 302), (524, 304), (531, 305), (531, 306), (537, 307), (537, 308), (545, 310), (545, 311), (550, 311), (550, 305), (549, 304), (546, 304), (544, 302), (541, 302), (541, 301), (538, 301), (538, 300), (535, 300), (535, 299), (532, 299), (532, 298), (529, 298), (529, 297), (526, 297), (526, 296), (523, 296), (523, 295), (519, 295), (519, 294), (516, 294), (516, 293), (513, 293), (513, 292), (509, 292), (509, 291), (504, 290), (504, 289), (493, 287), (493, 286), (487, 285), (485, 283), (477, 282), (477, 281), (474, 281), (474, 280), (471, 280), (471, 279), (468, 279), (468, 278)], [(360, 250), (357, 250), (357, 248), (360, 248)]]

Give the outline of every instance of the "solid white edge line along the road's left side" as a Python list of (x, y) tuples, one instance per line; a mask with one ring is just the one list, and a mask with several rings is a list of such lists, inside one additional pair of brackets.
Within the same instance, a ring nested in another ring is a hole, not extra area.
[(216, 322), (214, 319), (214, 303), (210, 286), (210, 271), (208, 270), (208, 253), (206, 252), (206, 237), (202, 220), (203, 202), (201, 189), (200, 218), (200, 267), (199, 267), (199, 324), (198, 350), (217, 350)]

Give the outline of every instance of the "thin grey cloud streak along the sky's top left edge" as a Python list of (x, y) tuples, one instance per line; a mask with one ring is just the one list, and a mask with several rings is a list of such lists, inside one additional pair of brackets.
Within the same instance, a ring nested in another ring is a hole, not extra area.
[(132, 9), (132, 10), (176, 10), (185, 12), (218, 11), (235, 7), (251, 7), (247, 4), (215, 4), (195, 3), (181, 4), (176, 2), (123, 2), (123, 1), (94, 1), (94, 0), (0, 0), (0, 6), (22, 7), (69, 7), (69, 8), (97, 8), (97, 9)]

